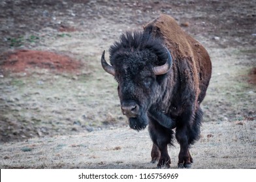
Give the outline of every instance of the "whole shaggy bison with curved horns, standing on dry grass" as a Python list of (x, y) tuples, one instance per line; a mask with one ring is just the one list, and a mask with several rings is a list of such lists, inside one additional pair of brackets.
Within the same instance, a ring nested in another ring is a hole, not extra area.
[(101, 64), (118, 82), (129, 126), (140, 131), (148, 125), (157, 168), (170, 167), (167, 146), (174, 135), (180, 144), (178, 168), (190, 168), (189, 147), (199, 139), (200, 103), (212, 74), (206, 49), (172, 17), (161, 14), (144, 31), (122, 34), (110, 47), (110, 64), (104, 51)]

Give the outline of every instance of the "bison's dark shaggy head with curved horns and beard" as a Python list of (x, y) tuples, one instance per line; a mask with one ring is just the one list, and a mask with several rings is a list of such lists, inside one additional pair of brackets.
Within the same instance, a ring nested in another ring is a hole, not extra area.
[(132, 129), (148, 125), (148, 110), (159, 97), (172, 58), (162, 40), (146, 32), (127, 32), (110, 47), (110, 64), (101, 57), (104, 70), (118, 82), (121, 111)]

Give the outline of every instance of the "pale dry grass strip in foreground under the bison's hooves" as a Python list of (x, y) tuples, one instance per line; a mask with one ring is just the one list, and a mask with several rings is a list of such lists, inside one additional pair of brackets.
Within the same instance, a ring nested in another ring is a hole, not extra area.
[[(256, 120), (208, 122), (191, 148), (193, 168), (256, 168)], [(33, 138), (0, 147), (0, 168), (155, 168), (148, 131), (128, 127)], [(179, 146), (169, 148), (176, 168)]]

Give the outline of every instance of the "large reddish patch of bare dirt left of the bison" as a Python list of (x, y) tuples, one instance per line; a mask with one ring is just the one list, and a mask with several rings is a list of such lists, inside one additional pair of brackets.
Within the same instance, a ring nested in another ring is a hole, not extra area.
[(57, 72), (74, 72), (82, 63), (65, 55), (48, 51), (16, 50), (0, 56), (1, 69), (10, 72), (25, 72), (28, 68), (44, 68)]

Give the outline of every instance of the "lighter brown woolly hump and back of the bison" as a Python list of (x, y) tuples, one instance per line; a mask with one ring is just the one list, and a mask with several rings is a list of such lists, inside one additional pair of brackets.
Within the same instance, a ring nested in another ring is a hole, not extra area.
[[(174, 64), (191, 60), (195, 85), (199, 86), (199, 103), (206, 95), (212, 75), (212, 63), (208, 52), (197, 40), (189, 36), (178, 25), (174, 18), (161, 14), (158, 18), (144, 26), (144, 31), (155, 37), (163, 38), (174, 60)], [(189, 59), (187, 59), (189, 57)]]

